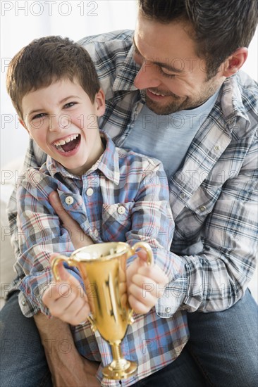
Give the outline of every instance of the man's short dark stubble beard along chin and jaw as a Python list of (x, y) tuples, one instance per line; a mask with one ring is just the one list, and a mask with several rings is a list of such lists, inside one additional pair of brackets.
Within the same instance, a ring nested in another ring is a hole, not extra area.
[(164, 92), (159, 89), (150, 89), (154, 91), (154, 93), (164, 94), (165, 96), (171, 96), (171, 102), (162, 106), (160, 103), (153, 101), (146, 94), (146, 105), (149, 110), (152, 110), (154, 113), (159, 115), (168, 115), (172, 113), (176, 113), (180, 110), (189, 110), (197, 108), (202, 105), (202, 103), (206, 102), (220, 87), (219, 82), (216, 82), (214, 79), (209, 82), (204, 83), (204, 87), (202, 90), (193, 97), (180, 97), (172, 92)]

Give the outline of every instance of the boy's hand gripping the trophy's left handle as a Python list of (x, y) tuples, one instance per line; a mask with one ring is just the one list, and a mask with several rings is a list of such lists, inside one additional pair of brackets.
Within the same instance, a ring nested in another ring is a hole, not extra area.
[[(56, 254), (52, 254), (53, 259)], [(42, 296), (43, 303), (54, 317), (78, 325), (90, 315), (90, 305), (80, 282), (59, 263), (61, 281), (49, 284)]]

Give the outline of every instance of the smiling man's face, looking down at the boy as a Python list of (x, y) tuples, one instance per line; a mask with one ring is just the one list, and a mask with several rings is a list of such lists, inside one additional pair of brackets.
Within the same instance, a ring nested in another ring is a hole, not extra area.
[(219, 70), (207, 81), (206, 63), (197, 57), (187, 28), (183, 22), (161, 24), (138, 16), (134, 60), (141, 68), (134, 83), (145, 89), (147, 106), (156, 114), (195, 108), (225, 80)]

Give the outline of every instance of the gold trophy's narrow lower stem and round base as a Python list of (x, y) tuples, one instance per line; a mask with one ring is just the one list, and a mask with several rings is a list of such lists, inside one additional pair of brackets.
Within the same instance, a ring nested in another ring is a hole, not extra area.
[(122, 357), (121, 341), (110, 343), (113, 361), (104, 367), (102, 373), (107, 379), (125, 379), (133, 375), (137, 369), (135, 362), (130, 362)]

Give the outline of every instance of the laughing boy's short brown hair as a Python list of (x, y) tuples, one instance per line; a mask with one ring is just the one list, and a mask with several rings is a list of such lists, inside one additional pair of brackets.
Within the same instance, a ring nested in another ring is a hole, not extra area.
[(13, 106), (23, 119), (21, 102), (30, 91), (53, 82), (78, 80), (92, 103), (100, 89), (97, 72), (89, 53), (68, 38), (59, 36), (33, 40), (8, 65), (6, 87)]

